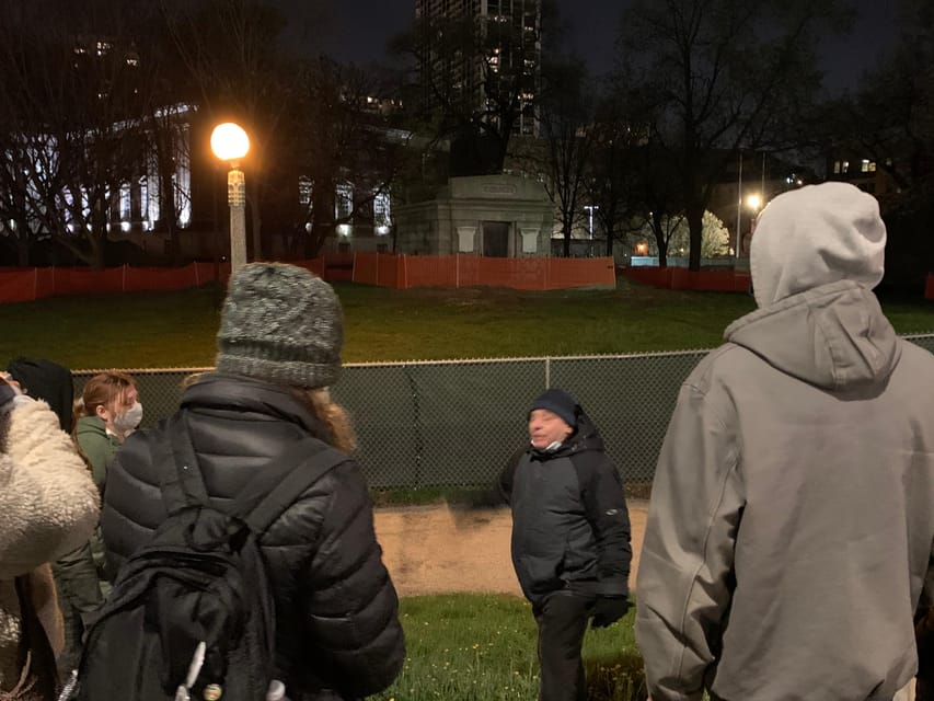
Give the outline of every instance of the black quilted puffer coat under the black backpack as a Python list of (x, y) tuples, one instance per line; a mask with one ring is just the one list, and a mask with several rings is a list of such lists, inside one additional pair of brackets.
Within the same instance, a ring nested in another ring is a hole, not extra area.
[[(208, 494), (223, 508), (291, 441), (326, 437), (286, 388), (212, 374), (185, 391)], [(130, 436), (111, 468), (102, 516), (111, 574), (165, 519), (154, 432)], [(293, 701), (355, 699), (388, 687), (405, 655), (395, 589), (359, 468), (331, 470), (260, 540), (276, 599), (277, 662)]]

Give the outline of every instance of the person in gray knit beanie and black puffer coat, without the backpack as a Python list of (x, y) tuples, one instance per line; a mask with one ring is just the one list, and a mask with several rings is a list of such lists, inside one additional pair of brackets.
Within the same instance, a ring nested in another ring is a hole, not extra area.
[[(197, 378), (178, 410), (215, 505), (230, 504), (254, 470), (307, 436), (353, 449), (349, 421), (325, 389), (337, 379), (342, 342), (339, 302), (318, 277), (267, 263), (234, 275), (217, 371)], [(137, 432), (111, 468), (102, 528), (113, 575), (166, 517), (153, 457), (159, 439), (158, 430)], [(405, 656), (399, 600), (354, 460), (309, 487), (260, 544), (289, 699), (358, 699), (392, 683)]]

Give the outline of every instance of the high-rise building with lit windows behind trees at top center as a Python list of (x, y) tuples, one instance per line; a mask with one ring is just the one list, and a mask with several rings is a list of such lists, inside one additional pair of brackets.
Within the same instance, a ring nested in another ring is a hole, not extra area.
[(459, 103), (496, 120), (511, 102), (519, 111), (512, 131), (538, 133), (541, 0), (415, 0), (415, 18), (429, 105)]

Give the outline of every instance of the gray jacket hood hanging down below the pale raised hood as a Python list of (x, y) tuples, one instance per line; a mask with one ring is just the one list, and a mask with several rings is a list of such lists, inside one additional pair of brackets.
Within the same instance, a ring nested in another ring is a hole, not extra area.
[(898, 336), (876, 296), (851, 280), (747, 314), (724, 337), (782, 372), (832, 391), (884, 383), (901, 357)]

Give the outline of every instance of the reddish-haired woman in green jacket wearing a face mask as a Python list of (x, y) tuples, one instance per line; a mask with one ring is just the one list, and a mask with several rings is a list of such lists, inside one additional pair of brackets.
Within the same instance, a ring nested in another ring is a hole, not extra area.
[[(74, 402), (72, 437), (102, 496), (111, 461), (141, 420), (136, 382), (124, 372), (95, 375)], [(65, 618), (66, 645), (59, 669), (67, 674), (80, 657), (87, 623), (109, 591), (100, 528), (81, 548), (59, 559), (53, 571)]]

